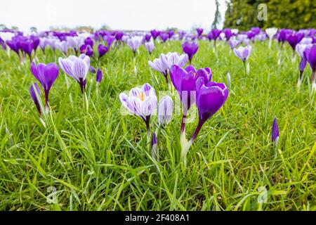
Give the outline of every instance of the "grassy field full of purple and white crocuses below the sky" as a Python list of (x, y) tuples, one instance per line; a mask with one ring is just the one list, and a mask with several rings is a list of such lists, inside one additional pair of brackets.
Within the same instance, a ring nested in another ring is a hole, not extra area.
[(316, 210), (315, 34), (0, 32), (0, 210)]

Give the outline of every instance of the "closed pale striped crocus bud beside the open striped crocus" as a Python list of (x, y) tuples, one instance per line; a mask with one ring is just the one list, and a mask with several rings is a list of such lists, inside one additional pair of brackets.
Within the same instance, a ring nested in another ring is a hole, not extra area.
[(173, 101), (170, 96), (164, 96), (159, 101), (158, 106), (158, 124), (159, 126), (166, 126), (169, 124), (173, 113)]

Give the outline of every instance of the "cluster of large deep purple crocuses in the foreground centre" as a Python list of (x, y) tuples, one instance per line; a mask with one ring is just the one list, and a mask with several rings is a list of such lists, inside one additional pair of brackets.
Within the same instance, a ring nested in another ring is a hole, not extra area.
[[(212, 82), (212, 72), (209, 68), (195, 70), (192, 65), (183, 69), (173, 65), (170, 69), (173, 86), (178, 91), (183, 106), (183, 119), (180, 129), (181, 160), (185, 160), (187, 151), (197, 138), (203, 124), (215, 114), (225, 103), (228, 89), (223, 83)], [(187, 112), (196, 103), (199, 111), (199, 123), (189, 141), (185, 137), (185, 120)]]

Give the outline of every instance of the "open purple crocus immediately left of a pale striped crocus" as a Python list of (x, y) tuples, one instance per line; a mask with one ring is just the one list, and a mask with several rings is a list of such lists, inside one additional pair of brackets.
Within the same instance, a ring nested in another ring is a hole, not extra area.
[(51, 90), (51, 86), (58, 77), (58, 66), (55, 63), (49, 63), (45, 65), (44, 63), (39, 63), (35, 65), (33, 62), (31, 64), (31, 71), (34, 77), (41, 83), (45, 93), (45, 106), (48, 112), (48, 94)]

